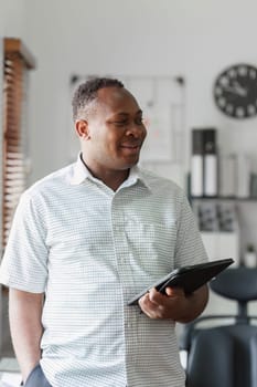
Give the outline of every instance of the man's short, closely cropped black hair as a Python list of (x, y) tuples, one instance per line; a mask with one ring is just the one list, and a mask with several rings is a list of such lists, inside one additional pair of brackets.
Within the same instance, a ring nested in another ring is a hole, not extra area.
[(96, 100), (98, 90), (104, 87), (122, 88), (124, 84), (119, 80), (110, 77), (94, 77), (82, 83), (75, 91), (72, 101), (74, 121), (78, 118), (79, 111), (86, 111), (86, 106)]

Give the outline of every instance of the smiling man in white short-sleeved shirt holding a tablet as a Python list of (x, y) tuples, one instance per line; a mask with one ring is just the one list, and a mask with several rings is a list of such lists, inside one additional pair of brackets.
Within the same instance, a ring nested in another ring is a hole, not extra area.
[(82, 84), (73, 111), (77, 163), (23, 194), (1, 266), (23, 380), (182, 387), (174, 326), (202, 313), (206, 286), (152, 289), (127, 303), (174, 268), (206, 260), (194, 217), (178, 186), (137, 167), (147, 132), (119, 81)]

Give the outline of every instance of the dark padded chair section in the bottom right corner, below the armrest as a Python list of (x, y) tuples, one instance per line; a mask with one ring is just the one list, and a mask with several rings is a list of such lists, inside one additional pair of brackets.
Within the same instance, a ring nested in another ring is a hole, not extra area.
[(193, 332), (189, 387), (256, 387), (257, 326), (231, 325)]

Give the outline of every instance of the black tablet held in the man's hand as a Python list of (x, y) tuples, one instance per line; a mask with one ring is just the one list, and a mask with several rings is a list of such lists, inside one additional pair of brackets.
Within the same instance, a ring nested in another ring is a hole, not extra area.
[(156, 287), (156, 290), (162, 294), (165, 293), (167, 286), (183, 287), (185, 294), (193, 293), (196, 289), (215, 278), (233, 262), (234, 260), (232, 258), (227, 258), (225, 260), (211, 261), (175, 269), (140, 293), (136, 294), (129, 300), (128, 305), (136, 305), (138, 300), (152, 287)]

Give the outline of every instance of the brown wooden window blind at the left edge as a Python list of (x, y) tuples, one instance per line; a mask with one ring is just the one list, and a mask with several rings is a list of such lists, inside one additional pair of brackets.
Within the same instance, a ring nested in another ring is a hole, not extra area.
[(2, 248), (26, 184), (25, 105), (28, 70), (34, 60), (19, 39), (3, 39)]

